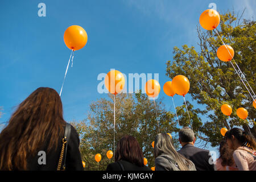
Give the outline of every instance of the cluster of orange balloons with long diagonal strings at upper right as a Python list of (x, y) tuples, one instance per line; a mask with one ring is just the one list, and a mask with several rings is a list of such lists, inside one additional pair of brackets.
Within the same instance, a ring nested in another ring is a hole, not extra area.
[[(234, 63), (236, 64), (236, 67), (238, 68), (239, 72), (234, 67), (234, 65), (233, 65), (233, 63), (231, 61), (233, 59), (233, 57), (234, 57), (234, 49), (231, 46), (226, 45), (223, 42), (220, 34), (218, 34), (217, 26), (218, 26), (218, 24), (220, 24), (220, 14), (218, 14), (218, 12), (216, 10), (213, 10), (213, 9), (205, 10), (200, 15), (199, 22), (200, 22), (201, 26), (205, 30), (214, 30), (216, 32), (216, 34), (218, 35), (218, 37), (221, 39), (223, 45), (220, 46), (218, 48), (218, 50), (217, 50), (217, 57), (218, 57), (218, 59), (220, 59), (221, 61), (226, 61), (226, 62), (229, 62), (230, 64), (232, 64), (232, 67), (237, 72), (237, 75), (240, 77), (243, 85), (245, 86), (245, 88), (249, 92), (251, 98), (253, 98), (253, 105), (256, 105), (256, 101), (255, 101), (256, 95), (255, 95), (253, 89), (251, 88), (249, 82), (246, 80), (246, 77), (245, 77), (245, 75), (243, 75), (241, 69), (238, 67), (236, 61), (234, 61)], [(241, 74), (241, 76), (240, 76), (240, 74)], [(249, 86), (250, 90), (247, 88), (247, 86), (246, 86), (244, 81), (247, 83), (247, 85)], [(255, 108), (256, 108), (256, 106), (255, 106)]]

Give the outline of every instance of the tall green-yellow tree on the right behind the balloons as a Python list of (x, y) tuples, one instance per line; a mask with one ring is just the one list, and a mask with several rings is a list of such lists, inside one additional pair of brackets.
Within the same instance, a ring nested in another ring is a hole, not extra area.
[[(220, 25), (217, 27), (225, 44), (234, 48), (236, 61), (241, 71), (247, 78), (253, 90), (256, 89), (256, 61), (255, 61), (255, 21), (243, 20), (234, 13), (221, 15)], [(256, 135), (253, 100), (241, 83), (240, 78), (232, 65), (218, 59), (216, 52), (222, 46), (221, 39), (214, 31), (201, 30), (197, 26), (199, 38), (198, 49), (195, 47), (174, 47), (173, 61), (167, 61), (166, 75), (171, 79), (176, 75), (187, 76), (190, 81), (189, 94), (192, 99), (201, 105), (199, 109), (189, 104), (189, 113), (192, 115), (192, 126), (197, 137), (210, 143), (213, 147), (218, 146), (222, 139), (220, 129), (238, 126)], [(233, 113), (230, 117), (221, 113), (221, 105), (228, 103), (232, 106)], [(202, 107), (204, 109), (202, 109)], [(236, 109), (245, 107), (249, 112), (247, 120), (237, 117)], [(186, 121), (186, 113), (179, 111), (181, 121)], [(202, 123), (196, 115), (207, 117)], [(181, 122), (182, 123), (182, 122)], [(249, 131), (249, 123), (253, 125)]]

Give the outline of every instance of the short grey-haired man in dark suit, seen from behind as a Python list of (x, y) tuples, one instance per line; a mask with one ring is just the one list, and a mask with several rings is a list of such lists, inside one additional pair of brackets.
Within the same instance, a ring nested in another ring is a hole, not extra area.
[(179, 141), (182, 148), (177, 152), (191, 160), (195, 164), (197, 171), (214, 171), (214, 164), (209, 150), (194, 146), (196, 138), (193, 130), (189, 127), (183, 127), (179, 131)]

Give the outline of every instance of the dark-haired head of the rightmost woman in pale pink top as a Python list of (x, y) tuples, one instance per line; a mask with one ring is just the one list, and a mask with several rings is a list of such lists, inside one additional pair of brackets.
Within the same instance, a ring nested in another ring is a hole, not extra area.
[(255, 139), (252, 135), (234, 127), (231, 130), (228, 130), (225, 134), (225, 139), (228, 144), (228, 147), (232, 150), (236, 150), (238, 147), (249, 145), (250, 148), (255, 150)]

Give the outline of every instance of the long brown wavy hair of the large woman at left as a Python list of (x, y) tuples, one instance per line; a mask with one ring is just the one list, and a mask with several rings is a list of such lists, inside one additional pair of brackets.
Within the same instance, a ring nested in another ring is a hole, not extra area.
[(27, 159), (46, 142), (47, 151), (57, 148), (65, 121), (59, 94), (38, 88), (18, 105), (0, 133), (0, 170), (26, 170)]

